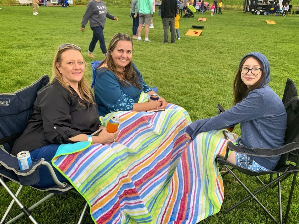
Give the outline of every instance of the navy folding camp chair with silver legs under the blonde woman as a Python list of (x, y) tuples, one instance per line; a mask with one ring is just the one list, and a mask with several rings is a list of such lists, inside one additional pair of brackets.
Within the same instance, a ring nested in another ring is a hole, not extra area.
[[(10, 154), (15, 139), (20, 136), (26, 128), (26, 123), (33, 111), (33, 102), (36, 99), (36, 93), (43, 86), (47, 85), (48, 82), (49, 77), (44, 75), (32, 85), (16, 91), (15, 93), (0, 93), (0, 187), (2, 185), (13, 198), (7, 211), (4, 213), (0, 224), (4, 223), (14, 202), (19, 205), (23, 212), (7, 223), (12, 223), (26, 214), (30, 221), (36, 224), (36, 220), (30, 214), (30, 211), (33, 208), (48, 198), (51, 198), (54, 194), (65, 194), (68, 191), (77, 193), (71, 184), (62, 183), (57, 179), (52, 166), (48, 162), (45, 162), (44, 159), (40, 159), (33, 163), (29, 169), (21, 171), (19, 169), (18, 159)], [(39, 200), (39, 202), (32, 205), (30, 208), (26, 208), (17, 197), (23, 185), (30, 186), (39, 182), (39, 167), (41, 165), (45, 165), (49, 169), (56, 185), (51, 188), (35, 188), (40, 191), (48, 191), (50, 194), (42, 200)], [(6, 182), (8, 181), (20, 184), (16, 194), (14, 194), (6, 185)], [(88, 204), (86, 203), (78, 223), (82, 222), (87, 205)]]

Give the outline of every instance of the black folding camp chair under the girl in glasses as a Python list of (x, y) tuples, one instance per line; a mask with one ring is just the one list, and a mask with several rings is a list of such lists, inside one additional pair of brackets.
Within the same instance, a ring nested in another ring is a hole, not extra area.
[[(247, 147), (241, 147), (241, 146), (236, 146), (232, 142), (228, 142), (227, 148), (230, 150), (233, 150), (237, 153), (242, 153), (242, 154), (248, 154), (248, 155), (254, 155), (254, 156), (264, 156), (264, 157), (273, 157), (273, 156), (278, 156), (281, 155), (281, 158), (278, 162), (278, 165), (275, 167), (273, 171), (269, 172), (252, 172), (247, 169), (240, 168), (236, 165), (232, 165), (226, 161), (228, 157), (228, 150), (226, 152), (225, 158), (216, 158), (216, 161), (220, 164), (220, 169), (224, 166), (227, 170), (226, 173), (224, 173), (222, 176), (230, 173), (241, 185), (242, 187), (250, 194), (247, 198), (242, 200), (241, 202), (237, 203), (236, 205), (232, 206), (228, 210), (226, 210), (224, 213), (227, 213), (228, 211), (231, 211), (232, 209), (236, 208), (238, 205), (242, 204), (243, 202), (249, 200), (250, 198), (253, 198), (262, 208), (263, 210), (271, 217), (271, 219), (275, 222), (278, 223), (278, 221), (270, 214), (270, 212), (262, 205), (262, 203), (255, 197), (257, 193), (260, 191), (263, 191), (265, 188), (273, 186), (278, 186), (278, 201), (279, 201), (279, 218), (280, 222), (283, 223), (282, 221), (282, 209), (281, 209), (281, 191), (280, 191), (280, 183), (289, 177), (290, 175), (293, 174), (293, 181), (291, 185), (291, 191), (289, 195), (289, 201), (286, 209), (286, 214), (285, 214), (285, 219), (284, 223), (287, 223), (288, 220), (288, 215), (289, 215), (289, 210), (290, 210), (290, 205), (292, 202), (292, 195), (295, 187), (295, 181), (296, 181), (296, 176), (299, 171), (298, 166), (299, 166), (299, 156), (298, 156), (298, 151), (299, 151), (299, 99), (298, 99), (298, 92), (297, 88), (294, 84), (294, 82), (291, 79), (287, 79), (286, 82), (286, 87), (283, 93), (283, 104), (286, 108), (286, 113), (287, 113), (287, 128), (286, 128), (286, 136), (285, 136), (285, 145), (281, 148), (277, 149), (262, 149), (262, 148), (247, 148)], [(220, 106), (218, 106), (219, 112), (223, 112), (224, 109)], [(294, 162), (294, 163), (290, 163)], [(232, 166), (233, 168), (229, 168), (229, 166)], [(245, 185), (242, 183), (242, 181), (234, 174), (233, 170), (237, 169), (238, 171), (256, 177), (262, 184), (263, 187), (260, 188), (259, 190), (255, 191), (252, 193)], [(271, 177), (273, 174), (277, 174), (277, 178), (272, 180), (270, 177), (270, 181), (268, 184), (264, 184), (258, 176), (260, 175), (265, 175), (265, 174), (270, 174)]]

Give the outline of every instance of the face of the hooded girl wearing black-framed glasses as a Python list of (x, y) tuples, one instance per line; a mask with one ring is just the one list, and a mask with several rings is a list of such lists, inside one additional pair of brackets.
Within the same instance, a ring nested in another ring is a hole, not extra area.
[[(249, 69), (262, 68), (260, 62), (253, 57), (246, 59), (242, 67), (247, 67)], [(254, 85), (257, 81), (259, 81), (261, 76), (262, 76), (262, 70), (260, 70), (260, 73), (258, 75), (253, 75), (251, 73), (251, 70), (248, 70), (247, 74), (241, 73), (241, 79), (244, 82), (244, 84), (247, 85), (247, 88), (249, 88), (250, 86)]]

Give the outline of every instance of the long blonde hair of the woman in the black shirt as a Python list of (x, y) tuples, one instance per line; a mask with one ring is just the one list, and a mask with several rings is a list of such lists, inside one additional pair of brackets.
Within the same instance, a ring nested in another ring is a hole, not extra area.
[[(63, 81), (62, 74), (59, 72), (59, 70), (56, 66), (56, 63), (61, 65), (62, 53), (67, 51), (67, 50), (77, 50), (81, 53), (81, 48), (79, 48), (76, 45), (72, 45), (72, 44), (69, 44), (65, 47), (62, 47), (62, 48), (58, 49), (57, 52), (56, 52), (56, 55), (54, 57), (54, 61), (53, 61), (53, 74), (52, 74), (52, 77), (51, 77), (51, 81), (53, 81), (53, 79), (56, 79), (60, 83), (60, 85), (62, 85), (64, 88), (66, 88), (68, 91), (70, 91), (74, 96), (76, 96), (75, 93), (71, 90), (71, 88)], [(89, 85), (85, 75), (83, 75), (82, 79), (79, 81), (78, 90), (82, 94), (82, 99), (83, 100), (85, 100), (89, 103), (95, 104), (94, 100), (93, 100), (92, 93), (91, 93), (90, 85)], [(84, 105), (80, 101), (79, 101), (79, 103), (81, 105)]]

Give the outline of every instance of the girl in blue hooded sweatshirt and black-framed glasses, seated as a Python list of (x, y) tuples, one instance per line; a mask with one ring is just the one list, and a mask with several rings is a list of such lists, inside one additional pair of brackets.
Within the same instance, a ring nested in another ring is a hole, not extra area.
[[(261, 53), (246, 54), (234, 81), (234, 106), (215, 117), (200, 119), (186, 129), (194, 139), (200, 132), (219, 130), (241, 123), (242, 137), (238, 142), (249, 148), (279, 148), (284, 145), (286, 110), (277, 94), (269, 87), (270, 67)], [(242, 143), (241, 143), (242, 142)], [(228, 161), (251, 171), (273, 170), (277, 157), (256, 157), (234, 151)]]

